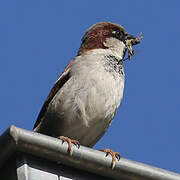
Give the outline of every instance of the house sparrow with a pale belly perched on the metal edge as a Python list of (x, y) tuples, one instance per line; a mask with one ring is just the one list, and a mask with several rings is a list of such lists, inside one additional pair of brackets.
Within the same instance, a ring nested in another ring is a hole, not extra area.
[[(93, 147), (104, 135), (123, 98), (123, 60), (128, 50), (140, 42), (114, 23), (90, 27), (82, 38), (78, 55), (69, 63), (49, 93), (34, 131), (59, 137), (69, 145)], [(129, 58), (130, 59), (130, 58)], [(115, 165), (114, 153), (112, 168)]]

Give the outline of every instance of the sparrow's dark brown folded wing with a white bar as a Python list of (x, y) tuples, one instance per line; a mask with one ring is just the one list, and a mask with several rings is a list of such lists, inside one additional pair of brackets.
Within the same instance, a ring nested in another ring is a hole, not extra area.
[(38, 118), (36, 120), (36, 123), (34, 124), (33, 129), (35, 129), (39, 123), (41, 122), (41, 119), (44, 117), (46, 110), (48, 108), (49, 103), (51, 102), (51, 100), (53, 99), (53, 97), (56, 95), (56, 93), (59, 91), (59, 89), (68, 81), (68, 79), (70, 78), (70, 67), (72, 62), (74, 61), (74, 59), (69, 63), (69, 65), (65, 68), (65, 70), (63, 71), (63, 73), (60, 75), (60, 77), (57, 79), (57, 81), (55, 82), (53, 88), (51, 89), (48, 97), (46, 98), (46, 101), (43, 104), (43, 107), (38, 115)]

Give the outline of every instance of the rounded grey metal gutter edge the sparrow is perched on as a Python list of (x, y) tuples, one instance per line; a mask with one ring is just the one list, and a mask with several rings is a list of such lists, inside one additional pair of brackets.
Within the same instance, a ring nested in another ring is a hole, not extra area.
[(111, 170), (111, 158), (103, 152), (81, 146), (73, 146), (73, 154), (69, 156), (67, 144), (46, 135), (27, 131), (11, 126), (0, 137), (0, 159), (5, 161), (13, 152), (25, 152), (45, 158), (56, 163), (62, 163), (109, 177), (124, 180), (180, 180), (180, 175), (160, 168), (121, 158)]

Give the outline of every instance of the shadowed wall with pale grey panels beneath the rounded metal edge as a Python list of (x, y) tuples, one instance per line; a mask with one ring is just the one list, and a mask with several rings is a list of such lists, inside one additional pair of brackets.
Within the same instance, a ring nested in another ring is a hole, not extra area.
[(18, 180), (109, 180), (62, 164), (21, 154), (17, 158)]

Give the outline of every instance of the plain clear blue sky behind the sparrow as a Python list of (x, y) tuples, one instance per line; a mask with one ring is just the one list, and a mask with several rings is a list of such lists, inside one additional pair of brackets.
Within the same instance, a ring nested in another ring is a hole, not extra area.
[(142, 43), (125, 63), (122, 104), (96, 149), (180, 172), (180, 1), (0, 1), (0, 133), (31, 130), (84, 32), (111, 21)]

